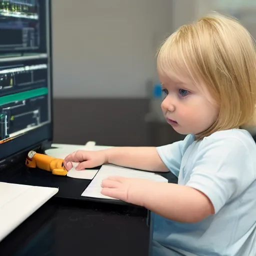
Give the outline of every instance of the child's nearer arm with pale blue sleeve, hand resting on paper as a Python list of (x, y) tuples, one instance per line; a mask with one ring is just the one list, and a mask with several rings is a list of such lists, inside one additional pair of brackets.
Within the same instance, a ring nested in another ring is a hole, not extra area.
[(216, 214), (256, 179), (251, 137), (242, 131), (235, 137), (232, 132), (232, 136), (215, 133), (203, 141), (186, 185), (114, 176), (102, 181), (101, 193), (180, 222)]

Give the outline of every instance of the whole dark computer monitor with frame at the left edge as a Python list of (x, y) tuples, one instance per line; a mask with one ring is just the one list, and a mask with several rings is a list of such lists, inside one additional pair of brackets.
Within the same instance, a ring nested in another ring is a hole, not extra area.
[(0, 161), (52, 140), (50, 30), (49, 0), (0, 1)]

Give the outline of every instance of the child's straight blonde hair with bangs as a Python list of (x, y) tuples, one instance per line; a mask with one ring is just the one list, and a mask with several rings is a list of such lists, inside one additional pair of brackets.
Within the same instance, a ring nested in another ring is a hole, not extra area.
[(217, 130), (254, 125), (256, 51), (249, 32), (233, 17), (213, 13), (179, 27), (157, 53), (161, 76), (204, 85), (219, 116), (197, 139)]

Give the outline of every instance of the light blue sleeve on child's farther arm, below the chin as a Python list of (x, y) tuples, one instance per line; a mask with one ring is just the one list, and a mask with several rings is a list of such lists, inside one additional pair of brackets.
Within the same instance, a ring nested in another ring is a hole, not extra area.
[(189, 144), (194, 141), (194, 136), (186, 135), (183, 140), (168, 145), (158, 146), (156, 150), (166, 167), (178, 177), (182, 156)]

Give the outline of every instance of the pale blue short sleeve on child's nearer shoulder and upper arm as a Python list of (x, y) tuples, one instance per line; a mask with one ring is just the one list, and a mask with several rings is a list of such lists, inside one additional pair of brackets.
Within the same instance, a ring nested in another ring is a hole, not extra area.
[(234, 137), (202, 141), (187, 186), (204, 193), (217, 213), (255, 179), (253, 157)]

